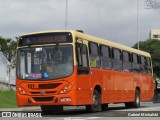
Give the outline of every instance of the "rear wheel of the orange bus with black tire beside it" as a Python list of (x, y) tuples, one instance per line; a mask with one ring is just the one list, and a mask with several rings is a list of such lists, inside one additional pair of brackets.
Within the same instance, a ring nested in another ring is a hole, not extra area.
[(140, 92), (138, 89), (135, 91), (134, 102), (125, 103), (126, 108), (139, 108), (140, 107)]

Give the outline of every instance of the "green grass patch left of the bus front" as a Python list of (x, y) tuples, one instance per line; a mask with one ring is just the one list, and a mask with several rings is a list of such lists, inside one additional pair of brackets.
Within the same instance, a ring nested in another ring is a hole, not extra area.
[(0, 91), (0, 108), (15, 108), (16, 105), (16, 93), (13, 90)]

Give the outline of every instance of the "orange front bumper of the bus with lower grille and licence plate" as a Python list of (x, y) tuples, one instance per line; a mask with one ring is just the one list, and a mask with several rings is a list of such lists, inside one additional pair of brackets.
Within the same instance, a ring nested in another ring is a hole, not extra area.
[(76, 105), (76, 91), (67, 94), (30, 96), (16, 93), (17, 106)]

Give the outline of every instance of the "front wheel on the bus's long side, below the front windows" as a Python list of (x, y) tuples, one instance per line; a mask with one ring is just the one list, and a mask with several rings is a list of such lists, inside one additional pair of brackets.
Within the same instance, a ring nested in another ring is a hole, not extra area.
[(101, 108), (101, 95), (97, 90), (94, 90), (92, 100), (93, 100), (93, 104), (86, 105), (86, 110), (88, 112), (99, 112), (99, 111), (102, 111), (102, 108)]

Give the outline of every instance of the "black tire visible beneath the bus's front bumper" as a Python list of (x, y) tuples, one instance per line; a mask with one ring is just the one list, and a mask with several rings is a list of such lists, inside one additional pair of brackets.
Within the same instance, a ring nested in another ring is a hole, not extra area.
[(43, 114), (59, 113), (63, 111), (63, 106), (42, 105), (41, 110)]

